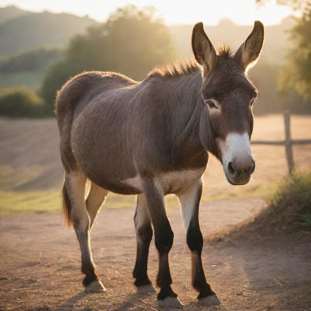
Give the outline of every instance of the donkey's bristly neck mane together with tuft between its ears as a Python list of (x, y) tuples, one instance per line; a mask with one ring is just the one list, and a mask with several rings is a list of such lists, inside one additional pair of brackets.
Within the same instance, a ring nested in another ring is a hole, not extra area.
[[(217, 48), (217, 55), (223, 59), (231, 59), (235, 50), (228, 44), (221, 44)], [(182, 77), (183, 75), (190, 75), (197, 72), (201, 66), (194, 58), (177, 61), (176, 63), (169, 63), (156, 66), (149, 73), (148, 77)]]

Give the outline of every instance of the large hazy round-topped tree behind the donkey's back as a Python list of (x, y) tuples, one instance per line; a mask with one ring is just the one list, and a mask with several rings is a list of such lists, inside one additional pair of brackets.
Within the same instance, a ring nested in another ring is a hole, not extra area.
[(86, 35), (74, 37), (66, 57), (47, 72), (40, 91), (44, 101), (52, 105), (63, 83), (83, 71), (122, 72), (141, 80), (156, 65), (173, 61), (176, 54), (170, 32), (154, 16), (152, 7), (139, 10), (129, 5)]

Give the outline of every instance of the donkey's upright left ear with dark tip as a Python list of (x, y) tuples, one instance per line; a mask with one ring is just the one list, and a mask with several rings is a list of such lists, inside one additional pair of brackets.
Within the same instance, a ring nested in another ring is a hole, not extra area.
[(203, 29), (202, 22), (194, 25), (191, 43), (195, 59), (203, 66), (204, 70), (209, 71), (215, 63), (216, 51)]

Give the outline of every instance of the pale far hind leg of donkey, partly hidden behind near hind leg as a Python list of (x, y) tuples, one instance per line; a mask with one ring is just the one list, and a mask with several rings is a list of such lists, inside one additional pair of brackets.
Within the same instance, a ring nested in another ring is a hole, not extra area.
[(95, 183), (91, 183), (91, 190), (86, 199), (86, 209), (90, 216), (90, 230), (100, 207), (104, 204), (108, 192), (108, 190), (97, 186)]

